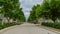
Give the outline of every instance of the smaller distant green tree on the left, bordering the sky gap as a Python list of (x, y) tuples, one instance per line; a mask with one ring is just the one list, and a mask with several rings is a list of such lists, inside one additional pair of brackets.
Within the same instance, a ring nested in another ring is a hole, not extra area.
[[(18, 8), (17, 8), (18, 9)], [(19, 20), (21, 22), (25, 22), (24, 13), (22, 11), (22, 8), (18, 9), (17, 11), (13, 12), (13, 19)]]

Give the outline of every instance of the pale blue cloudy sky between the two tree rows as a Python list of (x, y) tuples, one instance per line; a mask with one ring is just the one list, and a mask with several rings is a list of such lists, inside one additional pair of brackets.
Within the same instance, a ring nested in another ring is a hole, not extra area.
[(34, 5), (41, 4), (43, 0), (20, 0), (20, 5), (23, 8), (24, 15), (28, 19), (30, 10)]

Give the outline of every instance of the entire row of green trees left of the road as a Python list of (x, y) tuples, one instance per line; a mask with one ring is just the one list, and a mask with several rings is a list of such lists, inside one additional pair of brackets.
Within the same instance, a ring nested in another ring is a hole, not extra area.
[(0, 0), (0, 14), (4, 15), (8, 22), (10, 19), (25, 21), (19, 0)]

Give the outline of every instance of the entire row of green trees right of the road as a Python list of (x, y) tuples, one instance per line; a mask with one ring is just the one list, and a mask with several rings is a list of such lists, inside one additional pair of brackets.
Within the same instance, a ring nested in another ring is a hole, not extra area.
[(28, 21), (34, 21), (41, 17), (56, 21), (60, 19), (60, 0), (44, 0), (41, 5), (33, 6)]

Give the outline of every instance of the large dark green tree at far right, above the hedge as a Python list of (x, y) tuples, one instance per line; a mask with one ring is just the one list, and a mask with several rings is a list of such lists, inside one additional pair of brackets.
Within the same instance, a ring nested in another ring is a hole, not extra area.
[(42, 6), (42, 16), (52, 19), (54, 22), (60, 18), (60, 0), (45, 0)]

